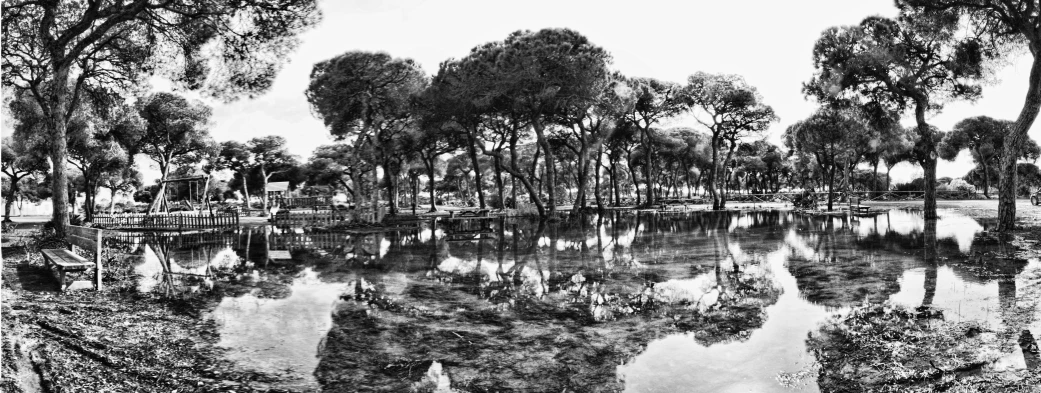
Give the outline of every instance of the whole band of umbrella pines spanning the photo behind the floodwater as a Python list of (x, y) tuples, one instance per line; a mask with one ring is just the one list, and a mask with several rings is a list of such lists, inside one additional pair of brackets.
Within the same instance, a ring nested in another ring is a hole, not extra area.
[[(779, 117), (742, 77), (623, 75), (607, 49), (569, 29), (514, 32), (445, 60), (434, 75), (411, 59), (347, 52), (311, 71), (306, 100), (337, 140), (306, 162), (276, 136), (214, 142), (206, 105), (135, 87), (162, 73), (211, 97), (263, 91), (279, 54), (319, 20), (312, 1), (134, 4), (5, 3), (3, 83), (16, 91), (8, 109), (18, 124), (4, 139), (8, 214), (15, 200), (52, 198), (61, 228), (70, 198), (83, 192), (90, 217), (102, 188), (132, 193), (151, 212), (185, 195), (223, 201), (236, 189), (247, 201), (259, 197), (268, 211), (266, 184), (284, 180), (342, 191), (358, 216), (384, 204), (390, 214), (417, 205), (433, 211), (452, 200), (542, 218), (558, 206), (655, 206), (694, 195), (723, 209), (734, 192), (786, 189), (827, 190), (832, 208), (842, 192), (896, 187), (924, 190), (933, 217), (938, 187), (961, 187), (940, 184), (938, 160), (968, 150), (976, 167), (964, 181), (988, 197), (997, 183), (1005, 230), (1017, 181), (1020, 188), (1038, 182), (1037, 167), (1019, 162), (1039, 156), (1025, 136), (1041, 109), (1037, 56), (1017, 120), (970, 117), (949, 132), (929, 123), (943, 104), (981, 97), (997, 60), (1041, 43), (1037, 12), (1019, 1), (900, 0), (895, 18), (827, 29), (803, 88), (819, 108), (789, 126), (782, 146), (765, 134)], [(134, 30), (171, 15), (176, 23), (153, 26), (161, 34)], [(224, 55), (202, 50), (212, 45)], [(179, 61), (157, 63), (159, 53)], [(906, 116), (913, 126), (900, 124)], [(155, 184), (142, 184), (141, 157), (159, 168)], [(889, 174), (900, 162), (920, 166), (923, 178), (893, 184)], [(211, 182), (219, 173), (230, 179)], [(204, 184), (170, 181), (183, 178)]]

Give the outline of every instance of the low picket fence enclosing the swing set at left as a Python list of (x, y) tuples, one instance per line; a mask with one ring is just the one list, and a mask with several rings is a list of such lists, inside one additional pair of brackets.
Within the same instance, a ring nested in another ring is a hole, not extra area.
[(95, 214), (94, 225), (107, 229), (183, 231), (238, 226), (238, 213)]

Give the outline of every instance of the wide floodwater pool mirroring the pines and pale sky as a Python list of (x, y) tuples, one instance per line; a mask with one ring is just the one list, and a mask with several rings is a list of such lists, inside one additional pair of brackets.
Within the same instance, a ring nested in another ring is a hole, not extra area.
[[(953, 211), (619, 211), (109, 241), (139, 290), (207, 299), (227, 356), (287, 389), (815, 392), (807, 336), (852, 307), (1041, 334), (1013, 317), (1041, 263), (984, 230)], [(989, 367), (1027, 361), (1013, 345)]]

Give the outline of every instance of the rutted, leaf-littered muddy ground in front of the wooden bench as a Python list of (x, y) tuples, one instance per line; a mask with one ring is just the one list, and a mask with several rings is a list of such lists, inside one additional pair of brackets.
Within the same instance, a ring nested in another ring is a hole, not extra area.
[(3, 248), (4, 392), (272, 390), (223, 360), (205, 299), (112, 290), (53, 292), (22, 250)]

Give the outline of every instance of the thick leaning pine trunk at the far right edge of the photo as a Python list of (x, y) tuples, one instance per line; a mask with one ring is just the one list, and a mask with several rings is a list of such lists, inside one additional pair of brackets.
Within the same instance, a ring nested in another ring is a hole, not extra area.
[(1039, 110), (1041, 110), (1041, 54), (1035, 53), (1023, 108), (1005, 137), (1002, 151), (1015, 152), (1015, 154), (1001, 154), (1001, 176), (997, 184), (997, 230), (999, 232), (1011, 231), (1016, 225), (1016, 161), (1019, 147), (1026, 140), (1026, 132), (1034, 125)]

